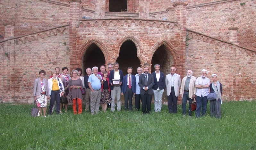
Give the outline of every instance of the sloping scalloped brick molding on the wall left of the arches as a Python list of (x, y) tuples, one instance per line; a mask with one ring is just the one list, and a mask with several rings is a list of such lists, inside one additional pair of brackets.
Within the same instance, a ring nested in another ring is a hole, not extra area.
[(69, 24), (60, 26), (57, 28), (42, 30), (40, 32), (35, 32), (35, 33), (31, 33), (31, 34), (27, 34), (27, 35), (23, 35), (23, 36), (19, 36), (19, 37), (9, 38), (9, 39), (0, 41), (0, 44), (2, 45), (3, 42), (14, 39), (15, 44), (18, 45), (20, 43), (20, 41), (22, 43), (26, 43), (27, 41), (31, 42), (32, 40), (38, 40), (38, 37), (44, 38), (45, 35), (47, 37), (50, 37), (52, 35), (52, 33), (53, 33), (53, 35), (56, 36), (58, 33), (63, 33), (65, 29), (68, 29), (66, 26), (69, 26)]

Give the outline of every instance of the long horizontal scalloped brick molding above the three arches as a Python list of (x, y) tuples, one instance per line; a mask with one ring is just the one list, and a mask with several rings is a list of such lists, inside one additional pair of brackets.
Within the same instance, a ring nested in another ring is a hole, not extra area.
[(177, 22), (173, 21), (163, 21), (163, 20), (141, 20), (141, 19), (130, 19), (130, 18), (124, 18), (124, 19), (81, 19), (76, 24), (76, 28), (79, 27), (95, 27), (95, 26), (143, 26), (143, 27), (157, 27), (157, 28), (167, 28), (167, 29), (173, 29), (175, 26), (180, 30), (181, 27)]

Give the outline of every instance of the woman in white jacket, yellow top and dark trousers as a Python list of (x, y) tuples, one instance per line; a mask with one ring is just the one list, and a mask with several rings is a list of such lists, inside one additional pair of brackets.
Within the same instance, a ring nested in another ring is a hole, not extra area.
[(52, 108), (54, 101), (56, 102), (56, 113), (59, 114), (60, 111), (60, 97), (64, 94), (64, 87), (61, 79), (56, 77), (57, 71), (53, 70), (51, 72), (52, 78), (48, 79), (48, 89), (49, 95), (51, 96), (50, 106), (48, 113), (52, 114)]

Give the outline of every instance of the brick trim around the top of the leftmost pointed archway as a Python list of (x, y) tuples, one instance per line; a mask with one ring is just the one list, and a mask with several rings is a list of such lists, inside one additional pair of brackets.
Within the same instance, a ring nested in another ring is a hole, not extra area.
[(110, 54), (109, 54), (108, 49), (105, 46), (105, 44), (101, 40), (99, 40), (97, 38), (90, 38), (89, 40), (84, 42), (81, 45), (81, 47), (79, 48), (79, 52), (80, 52), (80, 54), (79, 54), (79, 61), (80, 62), (79, 63), (81, 64), (83, 53), (91, 46), (92, 43), (96, 44), (100, 48), (100, 50), (104, 54), (105, 61), (109, 62)]

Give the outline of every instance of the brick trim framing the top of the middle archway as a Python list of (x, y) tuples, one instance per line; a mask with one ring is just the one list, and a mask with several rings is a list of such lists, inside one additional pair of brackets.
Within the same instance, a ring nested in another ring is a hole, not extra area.
[(119, 56), (120, 53), (120, 47), (122, 46), (122, 44), (127, 41), (127, 40), (131, 40), (136, 48), (137, 48), (137, 57), (139, 58), (141, 64), (144, 64), (147, 62), (144, 54), (142, 53), (142, 44), (140, 42), (140, 40), (132, 35), (126, 35), (124, 37), (122, 37), (117, 44), (115, 45), (115, 54), (110, 58), (110, 62), (115, 62), (117, 57)]

